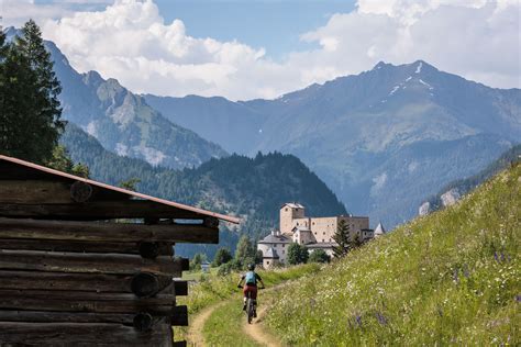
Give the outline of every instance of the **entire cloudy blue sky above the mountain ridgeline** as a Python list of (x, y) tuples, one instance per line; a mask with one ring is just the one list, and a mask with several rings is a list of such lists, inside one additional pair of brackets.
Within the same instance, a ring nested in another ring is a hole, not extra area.
[(519, 0), (2, 0), (3, 25), (36, 20), (80, 72), (135, 92), (277, 98), (422, 59), (521, 88)]

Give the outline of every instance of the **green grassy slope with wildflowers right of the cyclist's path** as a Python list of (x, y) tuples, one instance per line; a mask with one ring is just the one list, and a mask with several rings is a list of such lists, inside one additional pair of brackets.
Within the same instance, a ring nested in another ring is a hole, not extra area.
[(271, 298), (288, 345), (521, 344), (521, 165)]

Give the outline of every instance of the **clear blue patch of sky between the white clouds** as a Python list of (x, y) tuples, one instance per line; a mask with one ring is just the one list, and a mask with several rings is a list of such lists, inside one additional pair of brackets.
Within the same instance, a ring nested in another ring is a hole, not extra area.
[(354, 0), (157, 0), (166, 21), (181, 19), (196, 37), (237, 40), (282, 58), (287, 53), (318, 47), (300, 35), (328, 23), (333, 13), (354, 10)]

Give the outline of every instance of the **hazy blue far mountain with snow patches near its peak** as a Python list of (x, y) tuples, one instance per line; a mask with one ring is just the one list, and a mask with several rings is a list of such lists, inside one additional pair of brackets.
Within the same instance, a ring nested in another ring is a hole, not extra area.
[(276, 100), (145, 100), (228, 150), (298, 156), (354, 213), (388, 226), (521, 138), (521, 90), (489, 88), (422, 60), (379, 63)]

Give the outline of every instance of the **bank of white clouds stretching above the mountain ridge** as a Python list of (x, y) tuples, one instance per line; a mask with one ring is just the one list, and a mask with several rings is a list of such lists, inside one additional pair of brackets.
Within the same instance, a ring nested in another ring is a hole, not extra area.
[(378, 60), (424, 59), (492, 87), (521, 87), (520, 11), (517, 0), (359, 0), (355, 11), (302, 34), (317, 49), (282, 61), (236, 41), (192, 37), (180, 20), (166, 23), (151, 0), (66, 13), (43, 32), (78, 70), (98, 70), (136, 92), (251, 99), (357, 74)]

